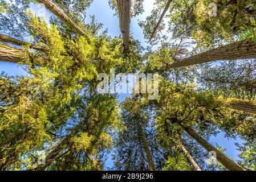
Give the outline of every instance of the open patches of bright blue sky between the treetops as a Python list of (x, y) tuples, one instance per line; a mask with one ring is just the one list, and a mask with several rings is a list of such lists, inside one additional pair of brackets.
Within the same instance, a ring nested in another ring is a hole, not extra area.
[[(131, 34), (132, 36), (139, 40), (143, 47), (147, 47), (147, 43), (144, 40), (143, 31), (141, 28), (137, 25), (137, 20), (145, 20), (147, 15), (151, 14), (151, 10), (153, 9), (153, 3), (155, 1), (147, 0), (144, 1), (144, 10), (145, 12), (142, 15), (136, 16), (136, 18), (132, 19), (131, 23)], [(34, 13), (38, 13), (38, 9), (41, 9), (37, 4), (31, 4), (31, 10)], [(92, 3), (91, 7), (87, 10), (87, 22), (90, 21), (89, 15), (95, 15), (95, 18), (97, 22), (103, 23), (104, 28), (108, 29), (108, 34), (110, 36), (119, 36), (120, 35), (120, 29), (119, 29), (119, 19), (117, 16), (113, 16), (114, 11), (109, 8), (108, 1), (107, 0), (94, 0), (94, 3)], [(46, 10), (46, 20), (50, 18), (50, 13)], [(165, 21), (166, 22), (166, 21)], [(1, 32), (4, 33), (4, 32)], [(23, 71), (21, 67), (18, 67), (17, 64), (14, 63), (5, 63), (0, 61), (0, 72), (4, 71), (8, 75), (23, 75), (26, 72)], [(125, 97), (127, 97), (127, 94), (121, 94), (119, 96), (119, 100), (124, 100)], [(228, 154), (231, 158), (234, 160), (238, 159), (238, 151), (237, 147), (234, 145), (235, 142), (242, 143), (243, 141), (241, 139), (227, 139), (225, 138), (224, 133), (220, 133), (217, 135), (217, 137), (211, 137), (209, 142), (215, 146), (216, 143), (218, 143), (221, 147), (226, 148), (226, 154)], [(109, 158), (106, 163), (106, 167), (112, 167), (112, 160), (111, 156), (109, 155)]]

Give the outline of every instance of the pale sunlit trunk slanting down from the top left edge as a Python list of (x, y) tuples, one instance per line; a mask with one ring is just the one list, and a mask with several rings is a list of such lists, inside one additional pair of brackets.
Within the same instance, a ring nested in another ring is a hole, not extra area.
[(86, 32), (82, 30), (73, 20), (68, 17), (58, 6), (56, 6), (51, 0), (36, 0), (39, 3), (43, 3), (51, 13), (58, 16), (63, 22), (70, 24), (74, 31), (78, 32), (78, 34), (86, 36)]

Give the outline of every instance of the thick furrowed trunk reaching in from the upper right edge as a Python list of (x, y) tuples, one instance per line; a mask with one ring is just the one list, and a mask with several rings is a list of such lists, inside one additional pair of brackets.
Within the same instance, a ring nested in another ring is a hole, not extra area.
[(168, 64), (167, 69), (186, 67), (194, 64), (208, 63), (210, 61), (220, 60), (238, 60), (256, 58), (256, 41), (241, 40), (239, 42), (227, 44), (210, 51), (200, 53), (174, 63)]

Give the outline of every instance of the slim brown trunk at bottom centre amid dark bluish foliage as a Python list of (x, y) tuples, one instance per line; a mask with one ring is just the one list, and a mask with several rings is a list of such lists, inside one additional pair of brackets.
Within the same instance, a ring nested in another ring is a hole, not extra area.
[(155, 171), (156, 168), (155, 168), (155, 164), (154, 164), (153, 159), (152, 159), (151, 151), (149, 150), (148, 141), (145, 137), (144, 131), (143, 131), (139, 121), (137, 121), (137, 127), (140, 131), (141, 139), (143, 140), (143, 146), (144, 146), (144, 149), (145, 149), (145, 152), (146, 152), (146, 155), (147, 155), (149, 170), (150, 171)]

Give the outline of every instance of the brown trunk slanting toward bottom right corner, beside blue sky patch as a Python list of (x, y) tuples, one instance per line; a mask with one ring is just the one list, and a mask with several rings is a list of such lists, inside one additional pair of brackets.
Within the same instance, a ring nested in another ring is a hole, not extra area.
[(241, 167), (239, 167), (233, 160), (230, 160), (227, 158), (226, 155), (222, 154), (217, 148), (213, 147), (210, 143), (208, 143), (205, 139), (200, 137), (196, 132), (194, 132), (190, 127), (183, 126), (180, 122), (178, 122), (181, 127), (188, 133), (192, 138), (197, 140), (198, 143), (201, 144), (202, 147), (204, 147), (208, 152), (214, 151), (216, 152), (216, 158), (217, 160), (225, 166), (229, 171), (243, 171)]

